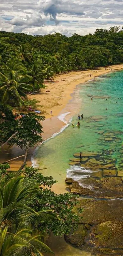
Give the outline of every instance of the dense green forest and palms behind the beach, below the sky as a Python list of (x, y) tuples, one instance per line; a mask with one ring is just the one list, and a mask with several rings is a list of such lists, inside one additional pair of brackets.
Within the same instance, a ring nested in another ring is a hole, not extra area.
[(0, 99), (4, 105), (20, 107), (27, 93), (41, 90), (45, 79), (52, 81), (56, 74), (122, 62), (120, 26), (71, 37), (0, 31)]

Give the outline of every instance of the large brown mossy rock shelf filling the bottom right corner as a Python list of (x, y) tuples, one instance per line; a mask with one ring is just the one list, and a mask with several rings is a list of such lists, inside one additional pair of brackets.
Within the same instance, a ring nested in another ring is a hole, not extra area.
[(74, 234), (65, 235), (67, 243), (81, 250), (84, 245), (84, 249), (90, 248), (94, 255), (123, 255), (122, 200), (80, 200), (74, 209), (76, 214), (78, 207), (83, 209), (78, 229)]

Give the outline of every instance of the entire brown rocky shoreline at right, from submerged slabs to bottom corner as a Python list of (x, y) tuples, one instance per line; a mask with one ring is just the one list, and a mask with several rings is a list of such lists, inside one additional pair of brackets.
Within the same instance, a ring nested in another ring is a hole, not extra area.
[[(118, 132), (116, 132), (118, 135)], [(106, 133), (116, 140), (116, 134)], [(101, 134), (102, 135), (102, 134)], [(112, 140), (109, 140), (112, 141)], [(110, 143), (110, 142), (109, 142)], [(81, 250), (87, 249), (96, 255), (123, 255), (123, 149), (119, 148), (121, 161), (113, 158), (113, 150), (99, 152), (82, 152), (74, 154), (69, 165), (81, 166), (92, 170), (86, 179), (74, 181), (66, 178), (67, 190), (74, 194), (86, 196), (79, 200), (83, 208), (79, 214), (78, 229), (65, 240)], [(83, 173), (84, 174), (84, 173)], [(79, 175), (79, 170), (78, 170)], [(75, 209), (77, 212), (77, 208)]]

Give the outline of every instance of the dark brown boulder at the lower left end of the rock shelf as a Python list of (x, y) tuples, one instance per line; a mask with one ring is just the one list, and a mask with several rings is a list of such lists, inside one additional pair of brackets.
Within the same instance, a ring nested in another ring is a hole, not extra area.
[[(89, 226), (89, 225), (88, 225)], [(87, 234), (88, 229), (84, 224), (78, 225), (77, 230), (74, 232), (70, 232), (69, 235), (65, 235), (65, 240), (67, 243), (70, 243), (76, 247), (81, 247), (85, 242), (85, 236)]]

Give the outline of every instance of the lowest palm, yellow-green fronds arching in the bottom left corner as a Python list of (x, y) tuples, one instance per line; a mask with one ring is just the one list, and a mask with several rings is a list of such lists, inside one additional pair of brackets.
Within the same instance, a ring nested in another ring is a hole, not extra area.
[(42, 235), (35, 234), (29, 227), (21, 223), (7, 226), (0, 230), (0, 256), (30, 256), (53, 254), (53, 251), (42, 242)]

